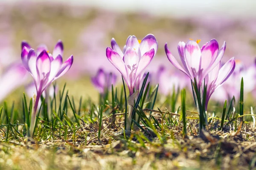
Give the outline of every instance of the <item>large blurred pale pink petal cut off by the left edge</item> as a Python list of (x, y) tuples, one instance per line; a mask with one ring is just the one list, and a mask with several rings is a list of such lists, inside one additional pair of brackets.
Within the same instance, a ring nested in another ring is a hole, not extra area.
[(3, 71), (0, 77), (0, 101), (15, 88), (26, 82), (28, 74), (21, 63), (13, 63)]

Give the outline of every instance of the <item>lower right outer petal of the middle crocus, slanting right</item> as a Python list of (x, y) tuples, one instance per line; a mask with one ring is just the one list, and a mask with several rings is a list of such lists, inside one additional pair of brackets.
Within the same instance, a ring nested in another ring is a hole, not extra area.
[(152, 48), (150, 51), (147, 51), (140, 59), (140, 62), (138, 64), (138, 68), (136, 71), (136, 77), (135, 79), (138, 78), (138, 76), (142, 73), (142, 71), (148, 66), (148, 64), (151, 62), (151, 60), (154, 57), (154, 48)]

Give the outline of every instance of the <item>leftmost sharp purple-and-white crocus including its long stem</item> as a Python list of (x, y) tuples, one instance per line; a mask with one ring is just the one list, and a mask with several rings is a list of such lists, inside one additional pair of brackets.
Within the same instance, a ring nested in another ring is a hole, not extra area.
[(29, 131), (29, 136), (33, 136), (40, 96), (55, 79), (63, 76), (70, 69), (73, 55), (62, 63), (63, 43), (60, 40), (55, 45), (52, 54), (48, 53), (45, 45), (39, 46), (36, 51), (27, 42), (22, 42), (21, 47), (21, 60), (24, 67), (32, 75), (37, 92)]

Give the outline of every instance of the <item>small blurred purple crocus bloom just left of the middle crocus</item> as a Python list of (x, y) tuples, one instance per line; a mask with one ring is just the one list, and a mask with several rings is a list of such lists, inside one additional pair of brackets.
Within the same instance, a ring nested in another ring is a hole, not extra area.
[(104, 94), (106, 90), (111, 89), (111, 86), (116, 84), (116, 74), (105, 72), (100, 68), (96, 76), (91, 78), (91, 81), (99, 93)]

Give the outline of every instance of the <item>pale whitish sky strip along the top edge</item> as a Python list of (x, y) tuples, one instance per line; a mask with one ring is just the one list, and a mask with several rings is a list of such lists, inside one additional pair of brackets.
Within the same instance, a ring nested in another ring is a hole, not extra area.
[(154, 15), (191, 16), (208, 14), (230, 17), (256, 17), (256, 0), (0, 0), (15, 2), (60, 2), (70, 5), (85, 5), (121, 12), (145, 12)]

